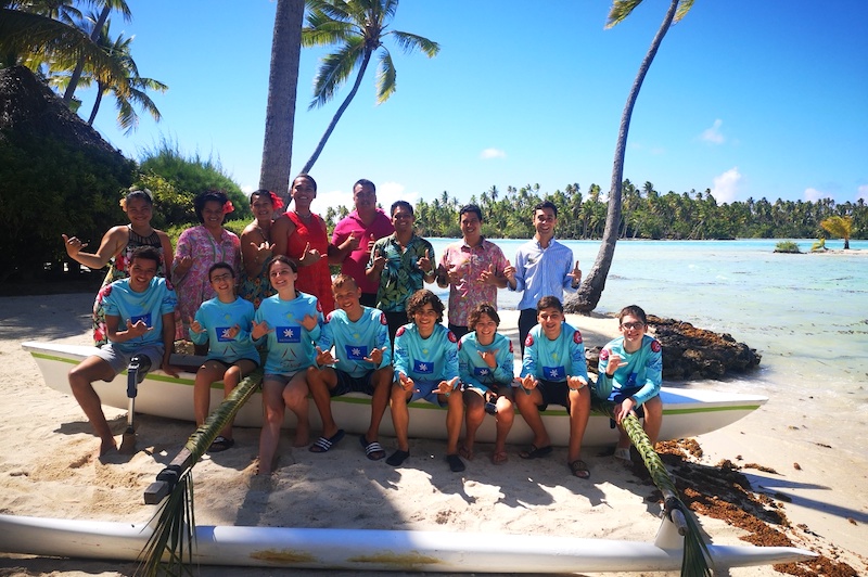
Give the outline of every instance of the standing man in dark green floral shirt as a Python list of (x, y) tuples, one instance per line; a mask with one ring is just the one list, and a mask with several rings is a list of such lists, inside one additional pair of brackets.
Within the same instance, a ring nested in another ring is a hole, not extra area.
[[(407, 201), (392, 205), (395, 232), (376, 241), (365, 275), (380, 283), (376, 308), (385, 312), (393, 342), (398, 328), (407, 324), (407, 299), (424, 282), (434, 282), (434, 247), (413, 231), (416, 216)], [(424, 282), (423, 282), (424, 281)]]

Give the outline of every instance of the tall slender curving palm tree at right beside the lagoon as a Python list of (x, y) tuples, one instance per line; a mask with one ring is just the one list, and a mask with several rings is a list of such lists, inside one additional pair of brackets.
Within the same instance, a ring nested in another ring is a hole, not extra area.
[[(609, 20), (607, 21), (607, 28), (611, 28), (627, 16), (630, 15), (633, 10), (638, 7), (642, 0), (615, 0), (609, 11)], [(615, 144), (615, 161), (612, 166), (612, 180), (610, 182), (609, 192), (609, 210), (605, 216), (605, 229), (603, 231), (602, 242), (600, 243), (600, 251), (597, 254), (590, 272), (585, 277), (582, 287), (576, 293), (576, 296), (571, 298), (567, 303), (567, 309), (573, 312), (591, 311), (597, 307), (600, 302), (600, 296), (605, 287), (605, 278), (609, 275), (609, 269), (612, 266), (612, 258), (615, 255), (615, 243), (617, 242), (618, 232), (621, 230), (621, 188), (624, 180), (624, 156), (627, 152), (627, 133), (630, 128), (630, 117), (633, 116), (633, 107), (636, 104), (636, 99), (639, 97), (639, 90), (642, 88), (642, 82), (654, 61), (663, 38), (669, 29), (673, 22), (680, 21), (693, 5), (693, 0), (671, 0), (669, 9), (666, 11), (666, 16), (663, 18), (658, 34), (648, 49), (639, 73), (633, 81), (633, 87), (627, 95), (627, 103), (624, 106), (624, 112), (621, 115), (621, 127), (618, 128), (617, 143)]]

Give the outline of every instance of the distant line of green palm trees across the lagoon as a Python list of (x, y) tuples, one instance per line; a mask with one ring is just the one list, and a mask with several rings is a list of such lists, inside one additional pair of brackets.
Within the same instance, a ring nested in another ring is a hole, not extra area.
[[(582, 193), (578, 183), (540, 192), (539, 184), (507, 187), (506, 192), (492, 187), (471, 203), (484, 213), (485, 235), (500, 239), (533, 236), (531, 214), (534, 205), (551, 201), (558, 207), (558, 236), (561, 239), (600, 239), (605, 227), (605, 198), (598, 184)], [(425, 236), (461, 236), (458, 210), (461, 203), (444, 191), (429, 202), (416, 203), (416, 225)], [(388, 207), (386, 207), (386, 210)], [(331, 225), (346, 216), (348, 208), (330, 207), (326, 219)], [(829, 217), (851, 217), (851, 239), (868, 239), (868, 206), (864, 200), (837, 204), (819, 201), (777, 201), (765, 197), (718, 204), (710, 190), (661, 194), (651, 182), (637, 188), (629, 180), (623, 185), (622, 239), (720, 240), (720, 239), (829, 239), (820, 222)]]

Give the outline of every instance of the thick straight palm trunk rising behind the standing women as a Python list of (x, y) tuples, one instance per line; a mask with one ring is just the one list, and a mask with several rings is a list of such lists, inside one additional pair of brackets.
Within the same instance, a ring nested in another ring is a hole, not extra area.
[(268, 73), (259, 188), (275, 191), (284, 203), (290, 196), (292, 137), (304, 14), (304, 0), (278, 0), (271, 35), (271, 66)]

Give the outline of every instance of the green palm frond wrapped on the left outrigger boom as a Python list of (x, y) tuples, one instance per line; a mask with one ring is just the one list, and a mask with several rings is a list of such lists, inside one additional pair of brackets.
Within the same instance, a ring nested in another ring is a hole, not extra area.
[[(193, 511), (193, 466), (226, 425), (259, 387), (263, 370), (247, 375), (187, 439), (183, 451), (159, 475), (158, 480), (173, 484), (154, 518), (154, 533), (139, 559), (137, 575), (192, 575), (195, 547)], [(177, 480), (176, 480), (177, 479)], [(165, 561), (164, 561), (165, 560)]]

